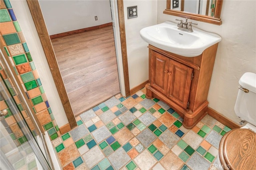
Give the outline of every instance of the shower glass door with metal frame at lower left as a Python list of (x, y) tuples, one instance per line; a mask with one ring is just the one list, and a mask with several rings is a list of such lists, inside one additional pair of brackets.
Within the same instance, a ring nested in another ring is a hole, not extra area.
[(42, 134), (30, 130), (11, 91), (1, 76), (0, 83), (0, 169), (51, 170)]

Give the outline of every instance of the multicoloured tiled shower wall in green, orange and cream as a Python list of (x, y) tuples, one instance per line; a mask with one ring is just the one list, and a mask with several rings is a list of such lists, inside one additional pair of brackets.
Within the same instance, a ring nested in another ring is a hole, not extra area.
[[(28, 97), (32, 104), (33, 111), (36, 113), (40, 122), (39, 126), (42, 126), (45, 131), (48, 131), (51, 140), (56, 139), (60, 136), (58, 125), (54, 120), (54, 115), (52, 114), (46, 94), (44, 93), (44, 89), (36, 71), (33, 59), (30, 55), (28, 45), (26, 44), (24, 35), (20, 29), (9, 0), (0, 0), (0, 43), (1, 46), (4, 47), (4, 50), (7, 53), (16, 74), (18, 75), (18, 79), (27, 94), (25, 97)], [(30, 117), (28, 117), (26, 110), (23, 109), (2, 63), (0, 70), (2, 78), (6, 82), (12, 96), (17, 102), (22, 115), (28, 122), (30, 129), (34, 130)], [(16, 145), (26, 142), (26, 137), (24, 137), (24, 135), (18, 130), (18, 124), (15, 121), (12, 112), (6, 106), (4, 99), (1, 98), (0, 102), (1, 110), (8, 110), (8, 115), (5, 116), (3, 122), (6, 129), (8, 129), (8, 132), (11, 134), (12, 139), (16, 141)]]

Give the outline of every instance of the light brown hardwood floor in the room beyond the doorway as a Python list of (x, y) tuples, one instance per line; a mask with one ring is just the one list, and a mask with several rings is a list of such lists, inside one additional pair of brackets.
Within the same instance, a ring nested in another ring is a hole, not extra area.
[(75, 116), (120, 93), (112, 26), (51, 41)]

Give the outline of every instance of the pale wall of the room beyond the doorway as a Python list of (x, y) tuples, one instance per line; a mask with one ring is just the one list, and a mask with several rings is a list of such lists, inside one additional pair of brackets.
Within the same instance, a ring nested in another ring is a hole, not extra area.
[[(112, 22), (109, 0), (40, 0), (49, 35)], [(94, 16), (98, 16), (95, 21)]]

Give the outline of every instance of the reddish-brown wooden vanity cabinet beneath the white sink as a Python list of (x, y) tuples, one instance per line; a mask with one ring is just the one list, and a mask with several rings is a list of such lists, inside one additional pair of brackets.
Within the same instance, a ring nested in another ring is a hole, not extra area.
[(208, 90), (218, 44), (196, 57), (183, 57), (149, 45), (149, 83), (146, 97), (172, 107), (192, 128), (208, 107)]

